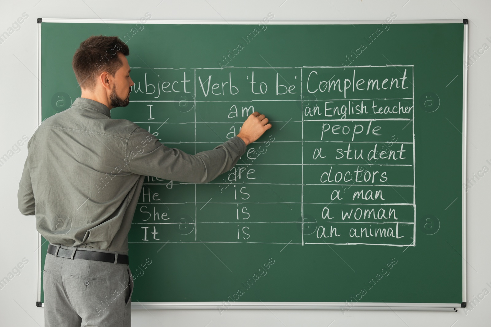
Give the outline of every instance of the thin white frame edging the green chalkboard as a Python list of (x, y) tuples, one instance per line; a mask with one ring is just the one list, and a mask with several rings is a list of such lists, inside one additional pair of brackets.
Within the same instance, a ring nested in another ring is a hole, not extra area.
[[(268, 24), (312, 24), (312, 25), (348, 25), (348, 24), (380, 24), (383, 20), (358, 20), (358, 21), (270, 21)], [(37, 19), (37, 73), (38, 73), (38, 126), (41, 125), (41, 23), (111, 23), (111, 24), (136, 24), (139, 20), (121, 19), (71, 19), (71, 18), (38, 18)], [(466, 188), (467, 178), (467, 67), (465, 63), (468, 57), (468, 20), (464, 19), (439, 19), (439, 20), (393, 20), (391, 24), (452, 24), (464, 23), (464, 68), (463, 68), (463, 125), (462, 125), (462, 303), (381, 303), (362, 302), (354, 304), (350, 309), (359, 310), (422, 310), (422, 311), (457, 311), (458, 307), (465, 307), (467, 302), (467, 260), (466, 260)], [(141, 23), (140, 23), (141, 24)], [(149, 20), (145, 24), (250, 24), (257, 21), (178, 21), (178, 20)], [(36, 305), (44, 307), (41, 302), (41, 234), (38, 233), (38, 271), (37, 271), (37, 301)], [(217, 309), (222, 307), (222, 302), (132, 302), (136, 309)], [(346, 310), (344, 302), (240, 302), (231, 303), (232, 309), (333, 309)]]

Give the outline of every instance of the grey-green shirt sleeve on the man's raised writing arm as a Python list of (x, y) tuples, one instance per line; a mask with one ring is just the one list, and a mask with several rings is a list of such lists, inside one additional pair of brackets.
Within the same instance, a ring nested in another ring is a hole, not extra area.
[(154, 135), (137, 127), (130, 135), (124, 158), (131, 173), (188, 183), (207, 183), (232, 169), (246, 152), (238, 137), (213, 150), (188, 154), (160, 143)]

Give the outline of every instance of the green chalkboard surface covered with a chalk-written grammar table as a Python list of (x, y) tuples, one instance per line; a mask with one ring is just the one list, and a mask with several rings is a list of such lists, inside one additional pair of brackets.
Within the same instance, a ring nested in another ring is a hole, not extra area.
[(113, 119), (188, 153), (254, 110), (273, 125), (210, 183), (146, 177), (134, 305), (465, 302), (467, 25), (388, 22), (39, 24), (42, 119), (80, 97), (73, 54), (103, 34), (136, 83)]

